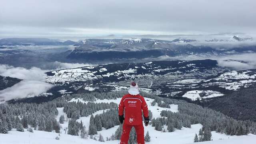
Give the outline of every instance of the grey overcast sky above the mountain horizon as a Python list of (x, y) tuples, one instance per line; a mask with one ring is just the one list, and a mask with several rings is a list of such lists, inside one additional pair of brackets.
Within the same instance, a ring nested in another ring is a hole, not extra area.
[(256, 0), (1, 0), (0, 38), (256, 33)]

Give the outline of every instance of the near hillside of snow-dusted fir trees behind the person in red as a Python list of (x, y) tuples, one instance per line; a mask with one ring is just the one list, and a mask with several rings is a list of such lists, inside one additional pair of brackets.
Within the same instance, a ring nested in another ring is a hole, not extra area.
[[(118, 109), (115, 101), (119, 102), (120, 97), (125, 93), (126, 91), (94, 92), (66, 95), (41, 104), (0, 104), (0, 132), (8, 133), (12, 128), (22, 132), (24, 128), (28, 128), (30, 131), (65, 132), (81, 137), (87, 137), (89, 134), (90, 138), (96, 139), (95, 136), (98, 132), (119, 125)], [(146, 97), (147, 101), (153, 98), (153, 101), (150, 101), (152, 108), (155, 105), (158, 110), (164, 108), (160, 111), (150, 109), (150, 126), (154, 127), (156, 131), (174, 132), (183, 128), (191, 128), (194, 124), (202, 124), (201, 141), (211, 140), (211, 131), (231, 136), (246, 135), (248, 133), (256, 134), (256, 123), (252, 121), (234, 120), (220, 112), (210, 108), (202, 108), (202, 106), (191, 104), (184, 100), (160, 98), (144, 92), (141, 94)], [(178, 110), (174, 112), (170, 109), (173, 106), (178, 106)], [(60, 108), (63, 111), (59, 111)], [(102, 111), (102, 113), (94, 114), (99, 111)], [(56, 118), (59, 112), (66, 116), (61, 114), (59, 118)], [(160, 115), (157, 115), (157, 113)], [(86, 127), (86, 124), (82, 121), (88, 116), (90, 116), (90, 124)], [(68, 124), (66, 125), (66, 130), (63, 127), (65, 126), (63, 123)], [(100, 134), (100, 140), (120, 139), (121, 129), (122, 127), (120, 126), (108, 138), (104, 138)], [(131, 135), (134, 136), (130, 138), (130, 141), (134, 142), (136, 140), (135, 131), (132, 131)]]

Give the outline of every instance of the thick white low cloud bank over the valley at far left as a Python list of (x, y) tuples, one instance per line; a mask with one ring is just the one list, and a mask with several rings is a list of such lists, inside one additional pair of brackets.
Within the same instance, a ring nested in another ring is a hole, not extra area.
[[(79, 63), (62, 63), (62, 62), (54, 62), (52, 63), (52, 67), (54, 69), (65, 69), (65, 68), (77, 68), (82, 66), (90, 66), (90, 64), (79, 64)], [(40, 68), (32, 67), (32, 68), (22, 68), (22, 67), (14, 67), (6, 64), (0, 64), (0, 75), (1, 76), (10, 76), (13, 78), (19, 78), (22, 81), (15, 84), (10, 88), (6, 88), (0, 91), (0, 101), (11, 100), (15, 98), (26, 98), (38, 96), (54, 85), (44, 82), (45, 80), (45, 72), (51, 70), (42, 70)]]

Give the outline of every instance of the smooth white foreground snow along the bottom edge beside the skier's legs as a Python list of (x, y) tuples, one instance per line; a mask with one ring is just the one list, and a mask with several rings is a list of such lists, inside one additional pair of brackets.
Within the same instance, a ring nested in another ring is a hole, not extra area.
[[(175, 132), (159, 132), (154, 130), (154, 127), (145, 127), (145, 131), (150, 132), (151, 141), (146, 144), (193, 144), (194, 134), (202, 127), (200, 124), (194, 124), (191, 128), (182, 128)], [(33, 133), (24, 129), (24, 132), (18, 132), (12, 129), (8, 134), (0, 134), (1, 144), (104, 144), (96, 140), (82, 139), (79, 136), (68, 134), (57, 134), (53, 132), (43, 132), (34, 130)], [(55, 140), (56, 136), (60, 140)], [(198, 144), (255, 144), (256, 136), (249, 134), (248, 136), (227, 136), (212, 132), (213, 141), (198, 142)], [(118, 140), (107, 141), (107, 144), (118, 144)]]

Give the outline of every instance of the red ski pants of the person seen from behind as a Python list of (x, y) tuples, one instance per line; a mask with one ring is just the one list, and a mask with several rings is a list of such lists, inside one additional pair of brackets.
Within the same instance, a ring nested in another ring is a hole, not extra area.
[[(132, 129), (132, 125), (123, 124), (123, 132), (121, 136), (121, 142), (120, 144), (128, 144), (130, 131)], [(137, 143), (138, 144), (145, 144), (144, 142), (144, 127), (143, 124), (140, 124), (138, 126), (134, 126), (136, 134), (137, 134)]]

